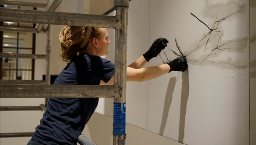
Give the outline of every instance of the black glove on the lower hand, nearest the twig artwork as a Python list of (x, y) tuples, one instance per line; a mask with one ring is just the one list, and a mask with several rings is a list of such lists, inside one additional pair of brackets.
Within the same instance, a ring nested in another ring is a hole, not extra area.
[(182, 72), (184, 72), (186, 70), (186, 68), (188, 67), (186, 58), (183, 58), (183, 57), (178, 57), (175, 60), (170, 61), (166, 64), (169, 64), (169, 66), (171, 67), (169, 73), (171, 71), (182, 71)]

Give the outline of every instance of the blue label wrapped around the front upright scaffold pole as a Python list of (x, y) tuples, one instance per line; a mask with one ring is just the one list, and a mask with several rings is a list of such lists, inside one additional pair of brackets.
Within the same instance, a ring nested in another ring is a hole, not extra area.
[(113, 135), (125, 134), (125, 103), (114, 103), (114, 116), (113, 116)]

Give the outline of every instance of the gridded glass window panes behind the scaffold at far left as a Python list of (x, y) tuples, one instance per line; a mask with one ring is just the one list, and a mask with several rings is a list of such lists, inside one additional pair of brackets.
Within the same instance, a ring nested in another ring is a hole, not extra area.
[[(6, 8), (29, 9), (28, 6), (4, 5)], [(35, 28), (33, 23), (1, 22), (1, 26)], [(35, 33), (3, 31), (2, 53), (35, 54)], [(33, 80), (34, 59), (31, 58), (1, 58), (1, 79), (4, 80)]]

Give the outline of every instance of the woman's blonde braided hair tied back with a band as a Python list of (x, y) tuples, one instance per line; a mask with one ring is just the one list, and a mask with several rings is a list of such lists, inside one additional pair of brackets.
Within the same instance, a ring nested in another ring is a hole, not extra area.
[(97, 27), (65, 26), (59, 35), (63, 61), (71, 61), (79, 50), (86, 49), (92, 38), (99, 38), (101, 30)]

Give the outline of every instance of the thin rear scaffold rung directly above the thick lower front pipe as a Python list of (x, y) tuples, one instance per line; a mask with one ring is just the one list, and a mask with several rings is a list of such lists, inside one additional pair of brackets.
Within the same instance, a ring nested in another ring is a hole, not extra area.
[(45, 80), (0, 80), (0, 84), (47, 84), (47, 82)]

